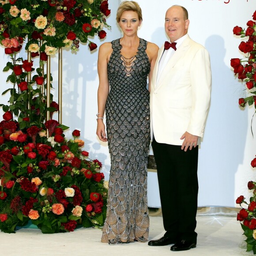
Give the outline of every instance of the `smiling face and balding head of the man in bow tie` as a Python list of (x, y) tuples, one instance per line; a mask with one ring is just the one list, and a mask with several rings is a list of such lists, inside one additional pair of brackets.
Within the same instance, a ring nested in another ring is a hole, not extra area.
[(184, 20), (184, 12), (180, 6), (173, 6), (166, 11), (165, 29), (171, 42), (188, 33), (189, 20)]

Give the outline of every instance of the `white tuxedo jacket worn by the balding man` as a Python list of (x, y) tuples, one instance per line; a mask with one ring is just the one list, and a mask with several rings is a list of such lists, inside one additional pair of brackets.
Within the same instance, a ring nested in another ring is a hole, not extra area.
[[(211, 98), (211, 64), (207, 50), (187, 37), (158, 78), (159, 49), (151, 80), (151, 140), (182, 145), (184, 132), (203, 137)], [(200, 143), (200, 138), (198, 143)]]

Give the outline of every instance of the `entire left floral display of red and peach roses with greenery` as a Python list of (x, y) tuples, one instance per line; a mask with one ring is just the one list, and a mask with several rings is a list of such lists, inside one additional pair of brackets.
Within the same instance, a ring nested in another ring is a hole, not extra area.
[[(4, 72), (11, 71), (7, 82), (12, 83), (3, 92), (11, 94), (8, 105), (0, 104), (5, 112), (0, 122), (3, 232), (15, 233), (16, 226), (28, 221), (42, 233), (104, 224), (108, 182), (102, 164), (81, 149), (78, 130), (66, 139), (68, 127), (52, 119), (59, 105), (50, 94), (47, 108), (44, 64), (59, 47), (76, 50), (79, 41), (87, 42), (95, 33), (105, 38), (102, 26), (109, 14), (107, 0), (0, 0), (0, 41), (11, 59)], [(40, 68), (17, 57), (26, 37), (25, 49), (39, 56)], [(89, 41), (89, 48), (97, 45)]]

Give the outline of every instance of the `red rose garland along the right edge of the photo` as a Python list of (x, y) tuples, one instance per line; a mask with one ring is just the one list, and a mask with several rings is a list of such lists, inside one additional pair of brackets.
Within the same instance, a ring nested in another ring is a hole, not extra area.
[[(239, 45), (241, 52), (247, 54), (245, 60), (238, 58), (231, 59), (230, 64), (233, 68), (235, 75), (238, 74), (238, 79), (245, 80), (245, 85), (249, 90), (247, 98), (240, 98), (239, 105), (245, 107), (254, 104), (256, 108), (256, 11), (252, 15), (252, 20), (247, 22), (248, 28), (242, 29), (239, 26), (233, 28), (233, 34), (241, 38), (248, 37), (248, 41), (242, 41)], [(251, 162), (253, 168), (256, 167), (256, 158)], [(253, 251), (256, 254), (256, 181), (248, 182), (248, 189), (252, 190), (253, 195), (249, 199), (249, 203), (245, 201), (244, 196), (239, 196), (236, 200), (237, 204), (245, 203), (248, 208), (242, 208), (237, 214), (237, 220), (241, 222), (244, 235), (247, 237), (247, 252)]]

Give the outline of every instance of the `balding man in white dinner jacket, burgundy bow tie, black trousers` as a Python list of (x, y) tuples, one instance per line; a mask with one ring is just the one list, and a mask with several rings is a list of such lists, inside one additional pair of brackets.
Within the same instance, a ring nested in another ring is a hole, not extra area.
[(207, 50), (188, 36), (188, 11), (166, 11), (170, 42), (158, 52), (151, 80), (151, 140), (157, 165), (164, 237), (148, 245), (174, 244), (172, 251), (196, 247), (198, 145), (211, 98)]

